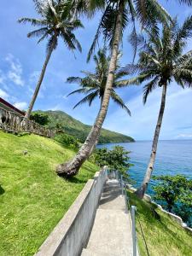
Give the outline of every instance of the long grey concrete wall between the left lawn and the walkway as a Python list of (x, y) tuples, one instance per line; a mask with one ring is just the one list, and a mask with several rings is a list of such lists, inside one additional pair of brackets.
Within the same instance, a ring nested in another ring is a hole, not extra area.
[(36, 256), (78, 256), (86, 245), (103, 185), (107, 180), (105, 168), (96, 172), (84, 186), (72, 207), (50, 233)]

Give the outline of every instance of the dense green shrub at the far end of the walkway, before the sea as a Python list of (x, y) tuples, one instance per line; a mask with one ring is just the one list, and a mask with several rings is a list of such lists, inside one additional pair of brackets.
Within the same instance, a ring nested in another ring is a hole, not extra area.
[(94, 154), (96, 165), (108, 166), (110, 171), (119, 171), (124, 177), (128, 178), (128, 170), (131, 166), (129, 163), (130, 152), (125, 148), (115, 146), (113, 149), (97, 148)]

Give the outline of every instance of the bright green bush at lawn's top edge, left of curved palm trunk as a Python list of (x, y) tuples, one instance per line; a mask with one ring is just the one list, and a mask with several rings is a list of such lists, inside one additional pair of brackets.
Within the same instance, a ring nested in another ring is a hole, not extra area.
[(79, 148), (78, 139), (65, 133), (55, 135), (55, 141), (61, 143), (63, 146), (67, 148), (72, 148), (75, 150)]

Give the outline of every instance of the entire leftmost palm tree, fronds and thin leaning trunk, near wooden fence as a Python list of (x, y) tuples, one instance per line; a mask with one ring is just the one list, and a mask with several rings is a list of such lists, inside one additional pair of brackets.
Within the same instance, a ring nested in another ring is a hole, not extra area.
[(73, 31), (78, 29), (79, 27), (83, 27), (80, 20), (71, 20), (71, 16), (69, 15), (71, 5), (69, 1), (61, 3), (61, 1), (59, 0), (33, 0), (33, 2), (35, 3), (35, 8), (38, 12), (38, 15), (41, 16), (41, 19), (21, 18), (19, 22), (24, 24), (26, 24), (26, 22), (29, 22), (32, 24), (32, 26), (40, 27), (37, 30), (29, 32), (27, 34), (27, 37), (38, 37), (38, 43), (42, 42), (44, 39), (47, 39), (48, 43), (44, 66), (40, 73), (38, 84), (32, 96), (32, 100), (26, 111), (26, 120), (30, 118), (30, 114), (32, 113), (32, 108), (37, 99), (40, 86), (43, 82), (44, 73), (49, 63), (50, 56), (52, 55), (53, 50), (56, 49), (56, 46), (58, 44), (58, 38), (63, 39), (64, 44), (67, 46), (68, 49), (79, 49), (79, 51), (81, 51), (81, 46)]

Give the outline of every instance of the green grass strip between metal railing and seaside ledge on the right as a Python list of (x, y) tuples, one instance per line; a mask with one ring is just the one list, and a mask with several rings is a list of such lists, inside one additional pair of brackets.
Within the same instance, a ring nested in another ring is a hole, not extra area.
[(192, 235), (172, 218), (147, 201), (141, 201), (129, 192), (130, 203), (137, 207), (137, 238), (141, 255), (148, 255), (143, 242), (141, 228), (150, 256), (191, 256)]

